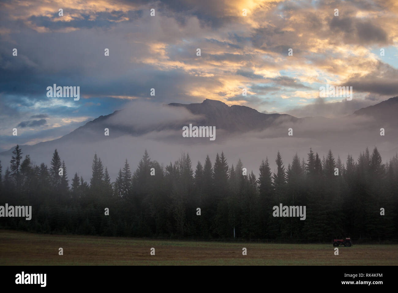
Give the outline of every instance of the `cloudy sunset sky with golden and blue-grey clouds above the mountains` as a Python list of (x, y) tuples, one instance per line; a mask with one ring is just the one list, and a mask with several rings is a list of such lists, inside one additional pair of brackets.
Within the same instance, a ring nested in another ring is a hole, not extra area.
[[(132, 100), (343, 117), (398, 95), (397, 60), (396, 0), (2, 1), (0, 150)], [(53, 84), (80, 99), (47, 97)], [(320, 98), (326, 84), (352, 86), (353, 100)]]

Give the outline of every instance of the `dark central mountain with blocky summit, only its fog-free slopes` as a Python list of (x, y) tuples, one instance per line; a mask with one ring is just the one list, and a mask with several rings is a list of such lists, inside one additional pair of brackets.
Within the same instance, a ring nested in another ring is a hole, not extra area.
[[(32, 148), (36, 149), (37, 147), (45, 147), (47, 145), (68, 144), (69, 142), (84, 143), (101, 141), (105, 138), (103, 135), (105, 128), (110, 129), (112, 138), (123, 135), (141, 136), (152, 131), (182, 130), (182, 127), (189, 125), (189, 123), (193, 123), (194, 125), (215, 126), (216, 129), (222, 129), (228, 133), (239, 133), (252, 130), (264, 130), (272, 125), (278, 125), (281, 122), (289, 121), (294, 123), (300, 120), (299, 118), (287, 114), (264, 114), (246, 106), (227, 106), (223, 102), (209, 99), (204, 100), (202, 103), (170, 103), (163, 106), (171, 108), (183, 107), (194, 114), (195, 118), (183, 120), (176, 119), (175, 121), (168, 121), (167, 123), (137, 126), (134, 123), (117, 123), (119, 115), (127, 114), (127, 116), (130, 117), (130, 113), (126, 113), (128, 110), (117, 110), (109, 115), (100, 116), (87, 122), (84, 126), (76, 128), (74, 131), (61, 138), (40, 142), (34, 146), (24, 145), (23, 148), (29, 150)], [(153, 114), (156, 115), (156, 113)], [(0, 153), (0, 155), (11, 155), (13, 149), (14, 147)]]

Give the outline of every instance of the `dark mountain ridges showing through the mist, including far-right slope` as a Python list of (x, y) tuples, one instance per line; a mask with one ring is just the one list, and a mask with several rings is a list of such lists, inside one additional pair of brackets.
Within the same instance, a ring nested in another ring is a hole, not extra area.
[[(201, 103), (191, 103), (191, 104), (181, 104), (181, 103), (169, 103), (163, 104), (163, 106), (169, 107), (183, 107), (192, 114), (202, 115), (204, 118), (199, 120), (187, 120), (185, 124), (189, 123), (199, 123), (201, 125), (215, 126), (217, 129), (225, 130), (228, 133), (235, 132), (248, 132), (248, 131), (261, 131), (271, 126), (276, 126), (282, 122), (297, 123), (300, 121), (310, 121), (316, 123), (320, 120), (333, 120), (336, 118), (325, 118), (322, 116), (308, 116), (303, 118), (297, 118), (289, 114), (279, 114), (272, 113), (266, 114), (258, 112), (254, 108), (243, 105), (231, 105), (228, 106), (222, 101), (205, 99)], [(398, 96), (389, 98), (388, 100), (382, 101), (373, 106), (368, 106), (361, 108), (349, 115), (349, 117), (355, 116), (373, 116), (381, 122), (386, 122), (387, 120), (397, 121), (398, 115), (396, 112), (398, 110)], [(57, 138), (55, 140), (49, 140), (46, 142), (39, 142), (34, 145), (24, 145), (23, 147), (33, 147), (42, 146), (43, 144), (48, 144), (50, 142), (67, 143), (69, 140), (84, 141), (96, 141), (100, 139), (98, 132), (103, 133), (107, 120), (111, 117), (116, 116), (118, 113), (125, 111), (115, 110), (113, 113), (107, 115), (101, 115), (92, 121), (87, 122), (83, 126), (80, 126), (73, 130), (72, 132)], [(387, 113), (387, 114), (386, 114)], [(108, 126), (109, 127), (109, 126)], [(125, 134), (130, 134), (133, 136), (140, 136), (142, 134), (151, 131), (162, 131), (162, 130), (179, 130), (181, 125), (169, 124), (169, 125), (155, 125), (148, 127), (146, 129), (137, 129), (131, 126), (113, 126), (112, 136), (117, 137)], [(14, 147), (7, 151), (3, 151), (0, 154), (9, 154)]]

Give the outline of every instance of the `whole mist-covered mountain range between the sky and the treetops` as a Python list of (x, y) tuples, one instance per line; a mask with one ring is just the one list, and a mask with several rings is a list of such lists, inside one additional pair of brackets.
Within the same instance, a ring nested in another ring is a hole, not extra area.
[[(61, 138), (21, 148), (23, 156), (29, 154), (34, 163), (47, 165), (57, 149), (68, 167), (69, 179), (74, 172), (90, 178), (97, 153), (114, 180), (125, 159), (131, 167), (136, 166), (145, 149), (160, 163), (170, 163), (184, 151), (189, 152), (192, 162), (204, 163), (207, 154), (214, 161), (215, 155), (224, 151), (228, 163), (242, 159), (248, 170), (258, 170), (259, 158), (269, 157), (274, 171), (278, 151), (287, 165), (296, 152), (306, 158), (310, 147), (321, 157), (332, 149), (336, 158), (345, 161), (348, 153), (357, 156), (366, 147), (377, 146), (386, 161), (398, 146), (397, 112), (398, 97), (338, 119), (265, 114), (209, 99), (193, 104), (133, 102), (131, 107), (100, 116)], [(189, 123), (215, 126), (216, 139), (184, 138), (182, 127)], [(109, 136), (104, 135), (105, 128)], [(293, 136), (288, 136), (290, 128)], [(380, 128), (385, 128), (385, 136), (380, 136)], [(13, 149), (0, 153), (4, 171)]]

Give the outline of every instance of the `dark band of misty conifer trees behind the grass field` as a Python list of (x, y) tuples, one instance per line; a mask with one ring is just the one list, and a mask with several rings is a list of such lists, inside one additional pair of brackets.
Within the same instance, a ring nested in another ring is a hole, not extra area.
[[(115, 182), (95, 154), (90, 183), (74, 174), (54, 151), (51, 166), (33, 165), (16, 146), (4, 177), (0, 205), (31, 205), (32, 220), (0, 218), (3, 227), (41, 233), (103, 236), (242, 238), (327, 242), (334, 236), (396, 239), (398, 155), (382, 163), (375, 147), (342, 163), (332, 151), (322, 159), (310, 149), (277, 172), (268, 158), (242, 175), (222, 152), (192, 167), (189, 154), (160, 165), (147, 151), (132, 173), (126, 159)], [(63, 175), (60, 174), (63, 169)], [(153, 168), (153, 169), (152, 169)], [(335, 175), (338, 168), (339, 175)], [(154, 174), (154, 175), (151, 175)], [(0, 162), (0, 176), (1, 176)], [(273, 206), (306, 206), (306, 220), (273, 217)], [(105, 215), (109, 208), (109, 215)], [(201, 208), (201, 215), (197, 215)], [(380, 208), (385, 215), (380, 215)]]

